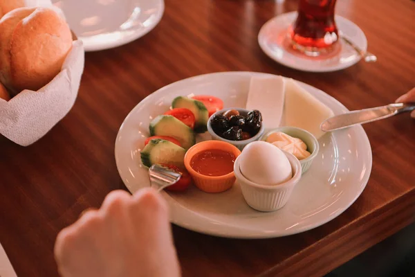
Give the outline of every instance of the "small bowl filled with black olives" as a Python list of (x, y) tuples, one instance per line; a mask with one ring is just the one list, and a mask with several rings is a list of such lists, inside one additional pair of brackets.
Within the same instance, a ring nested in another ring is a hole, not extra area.
[(256, 109), (228, 108), (210, 116), (208, 131), (212, 139), (226, 141), (242, 150), (248, 143), (259, 140), (264, 125), (261, 112)]

